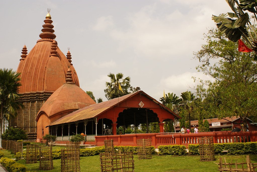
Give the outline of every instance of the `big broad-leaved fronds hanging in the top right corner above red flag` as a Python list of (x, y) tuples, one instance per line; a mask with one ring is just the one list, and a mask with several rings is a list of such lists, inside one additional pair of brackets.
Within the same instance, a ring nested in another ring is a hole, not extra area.
[[(257, 34), (251, 21), (257, 21), (257, 2), (255, 0), (226, 1), (233, 13), (220, 14), (219, 16), (213, 16), (212, 19), (217, 23), (219, 30), (222, 31), (222, 33), (225, 33), (229, 40), (237, 42), (242, 36), (250, 47), (255, 45), (253, 50), (256, 54)], [(249, 17), (248, 12), (250, 12), (251, 15), (253, 14), (251, 18)]]

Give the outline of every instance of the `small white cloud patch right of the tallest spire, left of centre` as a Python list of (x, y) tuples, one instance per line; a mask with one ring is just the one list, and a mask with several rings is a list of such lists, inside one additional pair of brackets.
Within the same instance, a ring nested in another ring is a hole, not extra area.
[(105, 31), (113, 26), (113, 16), (102, 16), (99, 17), (96, 23), (92, 26), (93, 30)]

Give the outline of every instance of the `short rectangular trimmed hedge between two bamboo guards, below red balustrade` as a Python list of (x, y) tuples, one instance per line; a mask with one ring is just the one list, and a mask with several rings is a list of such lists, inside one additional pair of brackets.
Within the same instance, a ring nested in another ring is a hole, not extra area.
[(185, 155), (187, 153), (184, 145), (165, 145), (159, 146), (160, 155)]

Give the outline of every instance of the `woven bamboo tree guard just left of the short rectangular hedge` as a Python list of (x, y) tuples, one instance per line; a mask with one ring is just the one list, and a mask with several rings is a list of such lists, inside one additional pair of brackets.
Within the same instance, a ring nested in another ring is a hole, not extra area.
[(151, 139), (136, 140), (138, 159), (151, 159)]

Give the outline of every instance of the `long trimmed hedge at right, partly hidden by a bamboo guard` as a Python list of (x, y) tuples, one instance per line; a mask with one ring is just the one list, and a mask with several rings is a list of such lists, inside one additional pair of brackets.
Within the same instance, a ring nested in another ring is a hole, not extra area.
[[(257, 142), (246, 143), (215, 143), (213, 145), (214, 153), (218, 155), (240, 155), (257, 153)], [(191, 155), (199, 154), (199, 144), (188, 145), (188, 151)], [(224, 152), (227, 151), (227, 152)]]

